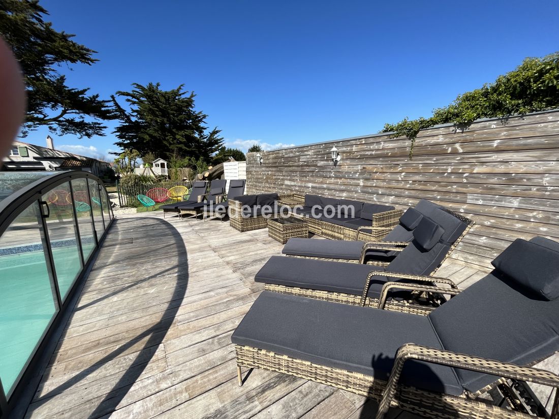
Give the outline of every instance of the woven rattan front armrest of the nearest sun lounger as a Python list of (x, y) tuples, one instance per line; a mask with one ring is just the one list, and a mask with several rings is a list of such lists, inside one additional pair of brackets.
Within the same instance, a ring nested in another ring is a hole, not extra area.
[[(559, 388), (559, 377), (556, 374), (545, 370), (480, 358), (479, 356), (471, 356), (442, 349), (434, 349), (427, 346), (405, 344), (400, 346), (396, 352), (396, 359), (394, 361), (394, 365), (392, 366), (390, 378), (386, 384), (384, 392), (382, 393), (376, 419), (383, 419), (388, 412), (392, 401), (394, 401), (394, 396), (396, 395), (398, 389), (398, 382), (400, 380), (404, 364), (409, 360), (446, 365), (453, 368), (496, 375), (502, 378)], [(554, 415), (557, 415), (557, 401), (559, 400), (558, 394), (559, 391), (556, 392), (551, 417), (556, 417)]]

